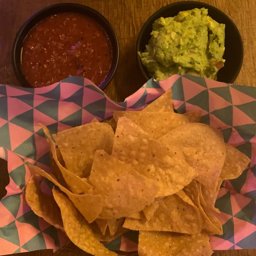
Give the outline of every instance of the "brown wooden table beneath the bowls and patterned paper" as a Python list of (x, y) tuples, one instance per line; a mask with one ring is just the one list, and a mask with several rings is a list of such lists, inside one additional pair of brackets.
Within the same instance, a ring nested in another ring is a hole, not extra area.
[[(1, 0), (0, 1), (0, 84), (19, 85), (11, 65), (11, 48), (18, 28), (34, 12), (44, 6), (70, 0)], [(135, 44), (143, 23), (160, 7), (174, 0), (73, 0), (93, 7), (112, 24), (120, 47), (119, 65), (105, 93), (115, 101), (123, 101), (145, 82), (136, 62)], [(251, 0), (204, 0), (225, 12), (238, 27), (244, 42), (244, 62), (235, 84), (256, 86), (256, 2)], [(6, 172), (0, 160), (0, 188)], [(3, 189), (2, 189), (3, 190)], [(0, 189), (1, 191), (1, 189)], [(1, 196), (1, 194), (0, 194)], [(52, 256), (51, 250), (16, 254), (17, 256)], [(85, 255), (83, 252), (60, 252), (56, 256)], [(134, 254), (133, 254), (134, 255)], [(216, 251), (215, 256), (256, 256), (256, 250)]]

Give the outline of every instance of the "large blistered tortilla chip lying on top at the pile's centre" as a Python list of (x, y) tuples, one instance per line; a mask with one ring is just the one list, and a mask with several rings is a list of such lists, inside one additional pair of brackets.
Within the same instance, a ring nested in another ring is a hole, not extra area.
[(157, 197), (180, 191), (197, 176), (182, 152), (152, 139), (126, 117), (118, 119), (112, 156), (132, 164), (140, 174), (153, 179), (160, 188)]

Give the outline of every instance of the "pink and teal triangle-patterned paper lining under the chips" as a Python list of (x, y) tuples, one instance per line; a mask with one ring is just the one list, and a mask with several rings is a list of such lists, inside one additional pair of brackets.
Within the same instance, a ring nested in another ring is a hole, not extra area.
[[(38, 218), (26, 204), (30, 173), (26, 162), (50, 171), (48, 144), (38, 123), (51, 133), (110, 118), (114, 110), (142, 110), (172, 90), (178, 113), (201, 110), (201, 122), (222, 130), (225, 141), (251, 158), (250, 168), (222, 184), (215, 206), (224, 234), (211, 237), (213, 250), (256, 248), (256, 88), (231, 85), (191, 75), (149, 80), (122, 103), (81, 77), (30, 89), (0, 85), (0, 157), (8, 160), (10, 183), (0, 201), (0, 255), (63, 248), (65, 234)], [(1, 174), (0, 174), (1, 175)], [(47, 184), (46, 184), (47, 187)], [(138, 232), (130, 231), (106, 247), (137, 249)]]

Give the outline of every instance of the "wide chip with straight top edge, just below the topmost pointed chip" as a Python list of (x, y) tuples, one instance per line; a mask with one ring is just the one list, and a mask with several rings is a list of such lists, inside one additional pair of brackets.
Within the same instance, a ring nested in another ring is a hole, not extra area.
[(154, 139), (189, 123), (186, 116), (174, 112), (114, 111), (113, 118), (116, 122), (120, 117), (129, 118)]

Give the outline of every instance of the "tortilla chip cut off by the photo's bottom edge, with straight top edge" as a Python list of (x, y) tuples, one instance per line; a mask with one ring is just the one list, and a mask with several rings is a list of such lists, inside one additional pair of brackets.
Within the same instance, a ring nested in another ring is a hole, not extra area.
[(138, 254), (140, 256), (210, 256), (208, 234), (194, 235), (159, 231), (139, 231)]

